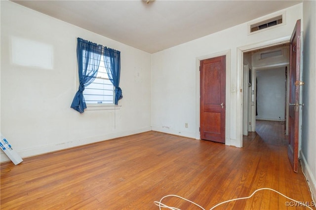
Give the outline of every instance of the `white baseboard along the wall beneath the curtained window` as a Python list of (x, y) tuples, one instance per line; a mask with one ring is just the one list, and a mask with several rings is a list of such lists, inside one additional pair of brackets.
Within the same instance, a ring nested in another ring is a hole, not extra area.
[[(130, 136), (133, 134), (139, 134), (143, 132), (151, 131), (151, 127), (145, 127), (145, 128), (140, 128), (137, 130), (132, 130), (132, 131), (124, 131), (124, 132), (118, 132), (118, 133), (112, 133), (112, 134), (107, 134), (103, 136), (98, 136), (98, 137), (93, 137), (93, 138), (86, 138), (86, 139), (79, 139), (79, 140), (70, 140), (70, 141), (65, 141), (62, 143), (57, 143), (57, 144), (49, 144), (49, 145), (44, 145), (40, 147), (34, 147), (31, 149), (24, 149), (24, 150), (18, 150), (16, 151), (22, 158), (26, 157), (31, 157), (35, 155), (40, 155), (40, 154), (45, 154), (48, 152), (53, 152), (53, 151), (58, 151), (62, 149), (68, 149), (71, 147), (75, 146), (81, 146), (89, 143), (95, 143), (98, 141), (104, 141), (104, 140), (111, 140), (119, 137), (125, 137), (125, 136)], [(14, 145), (12, 145), (14, 146)], [(1, 151), (0, 153), (0, 162), (6, 162), (10, 161), (10, 159)]]

